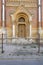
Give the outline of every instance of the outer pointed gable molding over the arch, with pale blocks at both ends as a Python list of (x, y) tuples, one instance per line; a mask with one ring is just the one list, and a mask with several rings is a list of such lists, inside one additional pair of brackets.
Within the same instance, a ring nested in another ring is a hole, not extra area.
[(12, 18), (12, 21), (15, 21), (16, 20), (16, 18), (17, 18), (17, 15), (18, 14), (24, 14), (24, 15), (26, 15), (27, 17), (28, 17), (28, 19), (29, 19), (29, 22), (31, 22), (32, 21), (32, 14), (29, 12), (29, 11), (27, 11), (27, 9), (24, 7), (24, 6), (19, 6), (17, 9), (16, 9), (16, 12), (13, 12), (12, 14), (10, 14), (10, 16), (11, 16), (11, 18)]

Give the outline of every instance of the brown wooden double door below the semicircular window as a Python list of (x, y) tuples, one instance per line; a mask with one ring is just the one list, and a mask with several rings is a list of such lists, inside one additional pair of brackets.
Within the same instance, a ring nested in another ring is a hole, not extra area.
[(21, 38), (26, 37), (26, 25), (25, 24), (18, 25), (18, 37), (21, 37)]

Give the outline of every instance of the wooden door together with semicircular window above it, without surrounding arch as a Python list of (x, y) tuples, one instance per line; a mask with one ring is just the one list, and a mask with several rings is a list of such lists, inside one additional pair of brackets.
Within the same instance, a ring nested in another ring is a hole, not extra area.
[(18, 37), (26, 37), (26, 25), (25, 25), (25, 18), (23, 16), (21, 16), (18, 19)]

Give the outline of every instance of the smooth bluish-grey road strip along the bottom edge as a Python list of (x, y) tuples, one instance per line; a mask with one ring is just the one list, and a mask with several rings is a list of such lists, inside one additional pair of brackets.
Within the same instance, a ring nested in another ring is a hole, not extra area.
[(0, 65), (43, 65), (43, 59), (36, 60), (0, 60)]

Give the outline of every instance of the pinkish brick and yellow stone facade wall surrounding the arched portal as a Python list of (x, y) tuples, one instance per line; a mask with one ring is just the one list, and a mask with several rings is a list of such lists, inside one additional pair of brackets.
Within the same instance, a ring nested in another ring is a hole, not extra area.
[[(43, 0), (42, 0), (42, 6), (43, 6)], [(8, 36), (12, 36), (12, 18), (11, 14), (16, 16), (15, 14), (23, 8), (28, 16), (32, 17), (32, 21), (30, 22), (32, 26), (32, 37), (37, 36), (37, 0), (6, 0), (6, 29)], [(17, 17), (16, 17), (17, 18)], [(28, 19), (29, 20), (29, 19)], [(13, 22), (15, 23), (16, 20)], [(1, 23), (1, 0), (0, 0), (0, 23)], [(1, 26), (1, 24), (0, 24)], [(42, 7), (42, 31), (43, 31), (43, 7)], [(28, 31), (27, 31), (28, 32)], [(10, 33), (10, 34), (9, 34)], [(30, 34), (30, 33), (29, 33)], [(16, 36), (18, 35), (16, 31)]]

